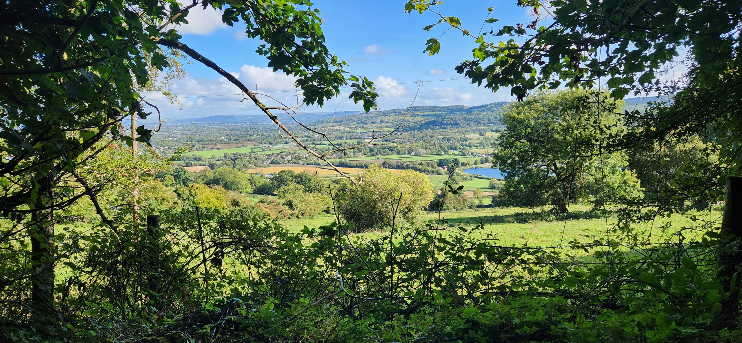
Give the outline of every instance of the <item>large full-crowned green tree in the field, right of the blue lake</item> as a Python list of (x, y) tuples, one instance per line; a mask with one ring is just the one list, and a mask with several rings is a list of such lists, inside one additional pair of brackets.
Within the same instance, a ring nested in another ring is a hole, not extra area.
[(622, 129), (614, 113), (623, 101), (608, 100), (611, 108), (590, 105), (605, 97), (597, 91), (542, 92), (510, 105), (493, 151), (494, 166), (505, 175), (504, 203), (551, 204), (562, 213), (581, 200), (600, 206), (641, 195), (636, 177), (626, 170), (626, 154), (601, 147), (605, 137)]

